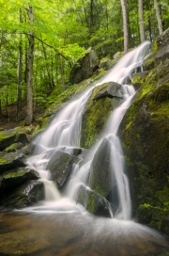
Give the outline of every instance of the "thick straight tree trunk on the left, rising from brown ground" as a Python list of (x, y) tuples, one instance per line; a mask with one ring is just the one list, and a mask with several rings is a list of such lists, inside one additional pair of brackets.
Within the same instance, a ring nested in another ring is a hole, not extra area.
[[(34, 23), (33, 8), (28, 8), (28, 17), (30, 24)], [(25, 125), (30, 125), (33, 120), (33, 104), (32, 104), (32, 79), (33, 79), (33, 62), (34, 62), (34, 32), (29, 32), (29, 49), (28, 49), (28, 63), (27, 63), (27, 116)]]

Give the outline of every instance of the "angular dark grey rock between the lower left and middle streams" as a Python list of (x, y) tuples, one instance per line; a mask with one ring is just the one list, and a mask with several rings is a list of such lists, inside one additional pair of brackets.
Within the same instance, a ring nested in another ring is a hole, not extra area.
[(57, 187), (65, 184), (76, 160), (76, 156), (70, 155), (67, 152), (58, 150), (54, 153), (46, 169), (51, 171), (51, 180), (54, 181)]

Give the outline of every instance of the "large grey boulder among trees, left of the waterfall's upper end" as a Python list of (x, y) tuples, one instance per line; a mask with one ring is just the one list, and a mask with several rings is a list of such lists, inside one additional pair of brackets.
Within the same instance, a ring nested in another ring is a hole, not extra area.
[(99, 60), (96, 53), (89, 48), (85, 55), (82, 56), (77, 64), (74, 65), (70, 72), (69, 83), (78, 84), (84, 79), (92, 76), (99, 69)]

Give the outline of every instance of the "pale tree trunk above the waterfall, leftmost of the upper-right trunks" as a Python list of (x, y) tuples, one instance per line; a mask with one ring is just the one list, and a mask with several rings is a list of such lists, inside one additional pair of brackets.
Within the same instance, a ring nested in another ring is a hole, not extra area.
[(121, 8), (123, 14), (123, 30), (124, 30), (124, 52), (125, 54), (128, 53), (128, 18), (127, 18), (127, 8), (126, 8), (126, 1), (121, 1)]

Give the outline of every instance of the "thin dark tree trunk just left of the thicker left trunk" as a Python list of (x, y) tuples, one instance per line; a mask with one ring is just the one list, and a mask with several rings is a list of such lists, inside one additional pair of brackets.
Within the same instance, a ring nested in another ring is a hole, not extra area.
[[(20, 23), (23, 23), (22, 8), (20, 8)], [(17, 120), (21, 120), (21, 113), (22, 113), (22, 80), (23, 80), (23, 35), (20, 34), (19, 57), (18, 57)]]

